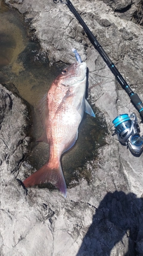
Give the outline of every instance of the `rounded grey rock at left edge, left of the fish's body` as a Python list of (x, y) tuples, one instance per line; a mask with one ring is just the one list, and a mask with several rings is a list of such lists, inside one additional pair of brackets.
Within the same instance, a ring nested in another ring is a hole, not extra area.
[[(1, 170), (7, 165), (7, 173), (14, 173), (23, 161), (29, 144), (26, 129), (29, 112), (22, 100), (0, 85), (1, 100)], [(4, 175), (7, 176), (7, 173)]]

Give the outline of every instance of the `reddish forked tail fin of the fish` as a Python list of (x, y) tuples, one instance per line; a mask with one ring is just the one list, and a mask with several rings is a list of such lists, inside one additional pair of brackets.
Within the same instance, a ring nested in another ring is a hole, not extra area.
[(67, 196), (67, 186), (64, 179), (63, 171), (61, 164), (58, 168), (50, 168), (48, 163), (43, 165), (38, 171), (35, 171), (31, 176), (27, 177), (24, 180), (24, 186), (43, 184), (43, 183), (52, 183), (55, 187), (60, 189), (64, 197)]

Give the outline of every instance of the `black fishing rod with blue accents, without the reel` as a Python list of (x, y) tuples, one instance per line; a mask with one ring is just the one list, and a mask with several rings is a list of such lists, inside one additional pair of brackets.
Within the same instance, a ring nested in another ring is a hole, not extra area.
[(105, 63), (110, 68), (111, 72), (116, 77), (117, 81), (120, 83), (122, 88), (127, 92), (132, 101), (133, 105), (138, 110), (141, 118), (143, 118), (143, 104), (141, 99), (139, 98), (138, 94), (134, 93), (128, 83), (126, 83), (125, 79), (122, 77), (122, 74), (117, 70), (116, 66), (113, 64), (111, 59), (108, 57), (107, 53), (105, 53), (104, 49), (102, 49), (101, 44), (98, 42), (97, 38), (94, 37), (86, 23), (83, 21), (82, 17), (80, 17), (79, 13), (77, 13), (76, 9), (74, 8), (73, 4), (71, 4), (70, 0), (53, 0), (56, 4), (60, 1), (62, 4), (66, 4), (69, 7), (70, 11), (74, 14), (77, 20), (79, 20), (80, 25), (82, 25), (84, 31), (88, 35), (89, 40), (95, 47), (95, 49), (100, 53), (102, 59), (104, 59)]

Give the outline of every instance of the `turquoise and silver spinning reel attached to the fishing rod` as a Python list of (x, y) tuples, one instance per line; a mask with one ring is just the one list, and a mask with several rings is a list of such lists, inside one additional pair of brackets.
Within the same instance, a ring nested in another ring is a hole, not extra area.
[(143, 138), (139, 135), (140, 129), (138, 126), (138, 121), (136, 115), (128, 116), (128, 114), (123, 114), (117, 116), (113, 120), (114, 124), (114, 134), (122, 144), (127, 144), (130, 151), (134, 154), (139, 154), (143, 150)]

